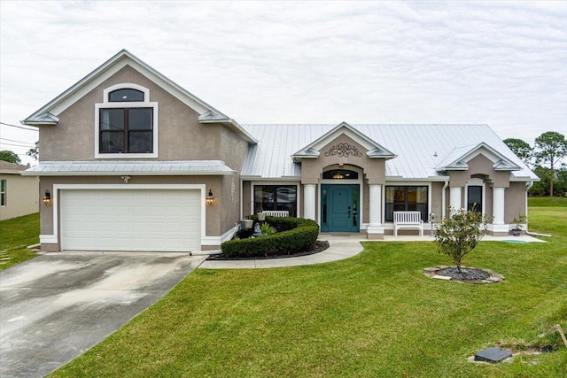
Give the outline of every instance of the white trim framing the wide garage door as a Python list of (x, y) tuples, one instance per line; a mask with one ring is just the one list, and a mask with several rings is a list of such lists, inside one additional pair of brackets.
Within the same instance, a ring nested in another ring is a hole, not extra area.
[(53, 234), (40, 235), (40, 243), (59, 243), (59, 206), (58, 197), (60, 190), (105, 190), (105, 189), (123, 189), (123, 190), (136, 190), (136, 189), (175, 189), (175, 190), (188, 190), (198, 189), (201, 192), (201, 243), (207, 241), (206, 236), (206, 185), (205, 184), (59, 184), (53, 185), (51, 193), (51, 206), (53, 207)]

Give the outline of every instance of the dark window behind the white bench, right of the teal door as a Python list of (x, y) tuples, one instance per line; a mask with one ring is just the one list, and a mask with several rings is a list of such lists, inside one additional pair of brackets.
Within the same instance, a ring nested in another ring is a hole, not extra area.
[(421, 212), (422, 220), (427, 220), (427, 187), (392, 186), (386, 187), (385, 217), (393, 221), (393, 212)]

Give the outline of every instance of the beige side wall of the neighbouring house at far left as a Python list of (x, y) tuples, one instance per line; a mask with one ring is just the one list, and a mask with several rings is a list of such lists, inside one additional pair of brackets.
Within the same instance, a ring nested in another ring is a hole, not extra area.
[(39, 212), (40, 192), (37, 177), (0, 174), (6, 181), (6, 205), (0, 206), (0, 220)]

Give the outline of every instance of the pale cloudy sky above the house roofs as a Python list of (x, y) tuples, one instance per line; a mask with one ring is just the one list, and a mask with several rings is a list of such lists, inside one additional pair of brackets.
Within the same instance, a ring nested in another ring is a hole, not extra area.
[[(242, 124), (567, 134), (567, 2), (2, 0), (0, 24), (11, 125), (127, 49)], [(23, 157), (37, 133), (0, 125), (0, 138)]]

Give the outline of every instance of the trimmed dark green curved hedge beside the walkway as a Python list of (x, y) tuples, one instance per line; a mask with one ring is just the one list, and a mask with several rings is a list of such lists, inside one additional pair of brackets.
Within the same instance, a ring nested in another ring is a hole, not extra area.
[[(256, 217), (252, 217), (256, 220)], [(277, 233), (252, 239), (230, 240), (221, 245), (227, 258), (283, 256), (307, 251), (317, 241), (319, 226), (314, 220), (293, 217), (266, 217)]]

